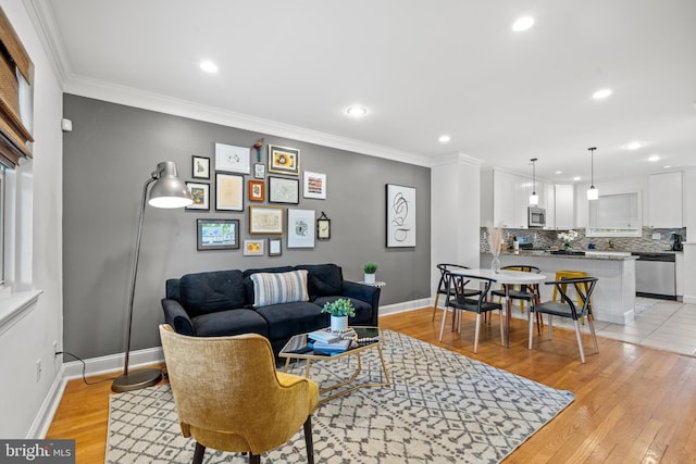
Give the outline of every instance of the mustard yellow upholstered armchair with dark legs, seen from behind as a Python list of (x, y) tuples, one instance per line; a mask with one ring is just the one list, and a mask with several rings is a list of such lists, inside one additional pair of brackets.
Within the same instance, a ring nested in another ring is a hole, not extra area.
[(279, 447), (304, 425), (314, 462), (311, 414), (319, 386), (275, 371), (271, 343), (256, 334), (188, 337), (160, 326), (164, 360), (182, 432), (194, 437), (194, 463), (206, 448), (248, 452), (249, 463)]

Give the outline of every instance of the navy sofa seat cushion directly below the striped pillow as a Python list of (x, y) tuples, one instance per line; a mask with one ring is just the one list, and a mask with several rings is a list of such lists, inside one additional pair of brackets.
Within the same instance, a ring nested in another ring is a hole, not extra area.
[(308, 301), (263, 306), (257, 312), (269, 323), (271, 340), (328, 327), (328, 314), (322, 313), (320, 306)]

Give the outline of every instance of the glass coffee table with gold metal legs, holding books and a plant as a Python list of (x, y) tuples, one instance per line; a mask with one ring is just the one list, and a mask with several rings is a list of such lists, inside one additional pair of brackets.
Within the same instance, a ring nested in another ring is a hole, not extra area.
[[(346, 380), (343, 380), (336, 385), (332, 385), (331, 387), (326, 387), (320, 389), (320, 394), (327, 393), (330, 391), (336, 390), (340, 387), (348, 386), (353, 384), (360, 372), (362, 371), (362, 361), (360, 359), (360, 353), (366, 350), (376, 349), (380, 353), (380, 361), (382, 362), (382, 371), (384, 373), (384, 381), (383, 383), (369, 383), (369, 384), (356, 384), (346, 388), (345, 390), (340, 390), (336, 393), (333, 393), (324, 399), (322, 399), (319, 404), (323, 404), (327, 401), (333, 400), (334, 398), (338, 398), (343, 394), (355, 391), (359, 388), (369, 388), (369, 387), (386, 387), (391, 385), (391, 380), (389, 380), (389, 374), (387, 373), (387, 365), (384, 362), (384, 355), (382, 354), (382, 337), (380, 334), (378, 327), (350, 327), (356, 330), (358, 335), (358, 339), (362, 340), (358, 342), (358, 347), (348, 348), (346, 351), (339, 352), (323, 352), (323, 351), (314, 351), (311, 347), (308, 346), (307, 334), (296, 335), (285, 343), (285, 347), (278, 353), (279, 358), (285, 358), (285, 372), (287, 373), (290, 366), (290, 360), (306, 360), (307, 366), (304, 369), (304, 377), (309, 378), (309, 371), (312, 364), (312, 361), (324, 361), (331, 362), (336, 361), (341, 358), (347, 356), (356, 356), (358, 362), (358, 367), (356, 372)], [(309, 340), (311, 341), (311, 340)]]

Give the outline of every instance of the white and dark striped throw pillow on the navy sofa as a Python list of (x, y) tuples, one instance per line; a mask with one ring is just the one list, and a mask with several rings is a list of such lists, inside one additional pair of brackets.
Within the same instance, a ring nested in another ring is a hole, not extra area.
[(251, 274), (253, 283), (253, 305), (256, 308), (271, 304), (309, 301), (307, 292), (307, 271), (290, 273)]

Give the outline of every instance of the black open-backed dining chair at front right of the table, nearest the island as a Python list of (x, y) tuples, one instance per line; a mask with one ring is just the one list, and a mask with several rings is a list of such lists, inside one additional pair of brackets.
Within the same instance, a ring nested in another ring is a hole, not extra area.
[[(589, 311), (589, 298), (592, 297), (593, 291), (595, 290), (595, 286), (599, 279), (597, 277), (580, 277), (580, 278), (563, 278), (555, 281), (547, 281), (546, 285), (556, 286), (556, 290), (561, 296), (561, 302), (557, 301), (546, 301), (540, 304), (535, 304), (531, 312), (536, 314), (548, 314), (548, 339), (551, 339), (552, 331), (552, 322), (554, 316), (567, 317), (573, 321), (575, 326), (575, 337), (577, 338), (577, 348), (580, 349), (580, 359), (585, 363), (585, 351), (583, 349), (583, 340), (580, 334), (580, 319), (582, 317), (587, 318), (587, 326), (589, 327), (589, 333), (592, 334), (592, 341), (595, 346), (595, 353), (599, 352), (599, 347), (597, 346), (597, 335), (595, 334), (595, 324), (592, 312)], [(568, 296), (566, 290), (569, 286), (572, 285), (572, 288), (575, 289), (577, 293), (577, 299), (582, 302), (582, 306), (575, 305), (573, 300)], [(530, 329), (530, 350), (532, 349), (534, 336), (533, 336), (533, 323), (532, 317), (527, 317), (529, 319), (529, 329)]]

